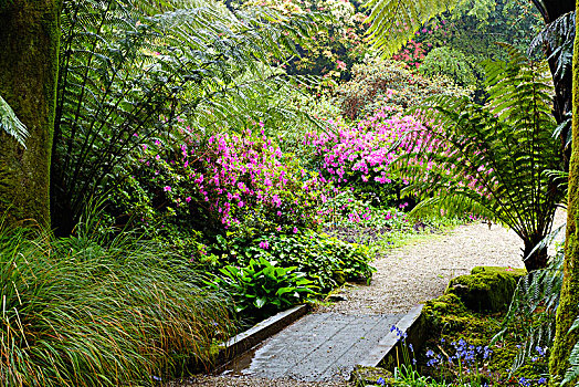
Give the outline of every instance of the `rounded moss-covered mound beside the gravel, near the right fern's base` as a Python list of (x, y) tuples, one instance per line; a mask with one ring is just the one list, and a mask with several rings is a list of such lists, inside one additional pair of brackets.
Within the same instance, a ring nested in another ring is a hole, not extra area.
[(525, 274), (522, 269), (478, 266), (472, 274), (452, 280), (445, 294), (456, 295), (472, 311), (502, 311), (510, 304), (517, 281)]

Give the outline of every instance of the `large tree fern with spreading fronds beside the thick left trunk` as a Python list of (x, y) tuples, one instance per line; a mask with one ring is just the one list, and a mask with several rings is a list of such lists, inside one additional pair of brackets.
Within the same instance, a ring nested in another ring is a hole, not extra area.
[[(165, 12), (149, 8), (156, 4)], [(286, 113), (256, 101), (308, 82), (264, 69), (295, 54), (317, 29), (313, 15), (171, 4), (64, 1), (51, 194), (63, 232), (86, 196), (140, 144), (171, 137), (177, 119), (198, 133), (246, 125)]]

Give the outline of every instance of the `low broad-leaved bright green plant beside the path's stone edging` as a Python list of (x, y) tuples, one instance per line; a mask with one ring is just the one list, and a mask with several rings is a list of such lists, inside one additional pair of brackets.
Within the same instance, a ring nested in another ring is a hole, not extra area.
[(273, 314), (295, 305), (315, 294), (313, 281), (297, 266), (280, 268), (264, 258), (250, 260), (246, 266), (227, 265), (207, 283), (224, 289), (235, 302), (235, 311), (244, 316), (257, 317)]

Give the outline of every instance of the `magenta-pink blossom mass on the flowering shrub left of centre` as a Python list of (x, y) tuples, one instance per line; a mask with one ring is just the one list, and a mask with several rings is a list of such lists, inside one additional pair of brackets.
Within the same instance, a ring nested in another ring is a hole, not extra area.
[[(143, 150), (159, 161), (155, 146)], [(178, 206), (202, 206), (225, 228), (252, 221), (281, 230), (320, 222), (315, 209), (329, 192), (327, 180), (284, 155), (263, 128), (259, 134), (217, 134), (207, 144), (187, 140), (175, 154), (166, 165), (176, 174), (162, 190)]]

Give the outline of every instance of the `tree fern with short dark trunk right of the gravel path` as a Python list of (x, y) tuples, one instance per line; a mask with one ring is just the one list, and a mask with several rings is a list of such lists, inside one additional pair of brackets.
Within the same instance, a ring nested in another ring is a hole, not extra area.
[[(550, 231), (561, 191), (546, 170), (560, 169), (558, 144), (550, 135), (552, 86), (544, 62), (509, 49), (508, 62), (488, 62), (486, 106), (469, 98), (428, 100), (417, 114), (424, 129), (412, 133), (410, 150), (397, 166), (409, 178), (407, 191), (427, 205), (481, 211), (508, 226), (525, 242), (527, 269), (546, 263), (546, 250), (528, 258)], [(432, 209), (429, 209), (432, 210)]]

